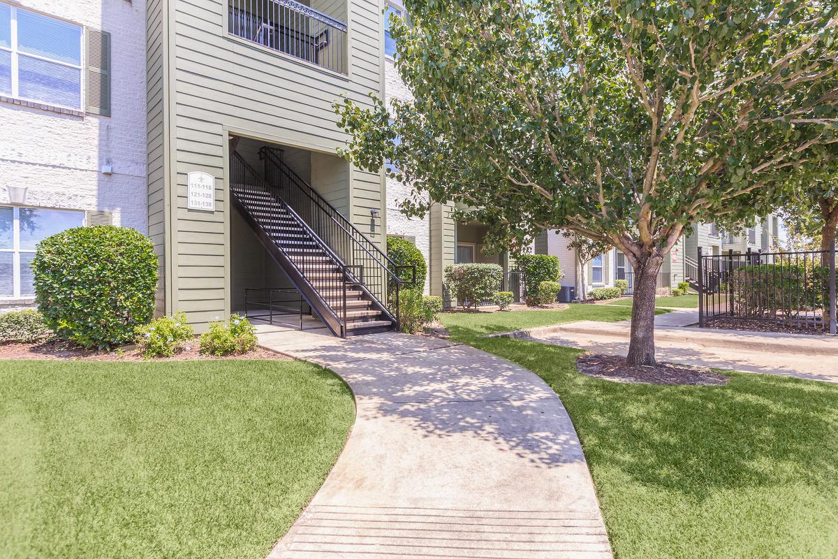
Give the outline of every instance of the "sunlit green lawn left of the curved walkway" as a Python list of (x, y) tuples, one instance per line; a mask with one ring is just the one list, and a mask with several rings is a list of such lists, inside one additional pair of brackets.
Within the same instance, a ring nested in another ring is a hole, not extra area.
[(0, 361), (0, 556), (261, 559), (353, 420), (298, 361)]

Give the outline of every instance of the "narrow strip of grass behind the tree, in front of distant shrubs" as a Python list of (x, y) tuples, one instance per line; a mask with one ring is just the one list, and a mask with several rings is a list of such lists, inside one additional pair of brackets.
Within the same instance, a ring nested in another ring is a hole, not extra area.
[[(660, 310), (658, 313), (665, 313)], [(463, 312), (443, 313), (446, 324), (468, 329), (477, 334), (494, 334), (510, 330), (535, 328), (549, 324), (597, 320), (618, 322), (631, 318), (631, 308), (607, 305), (571, 304), (563, 310), (504, 311), (499, 313)]]

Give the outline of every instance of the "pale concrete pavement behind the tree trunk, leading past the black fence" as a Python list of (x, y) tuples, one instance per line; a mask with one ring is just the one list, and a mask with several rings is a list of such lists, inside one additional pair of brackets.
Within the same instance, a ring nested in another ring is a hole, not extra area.
[[(838, 382), (838, 339), (835, 337), (686, 326), (696, 323), (697, 319), (696, 311), (678, 311), (655, 317), (654, 339), (659, 360)], [(630, 329), (630, 321), (604, 323), (583, 320), (495, 335), (626, 355)]]

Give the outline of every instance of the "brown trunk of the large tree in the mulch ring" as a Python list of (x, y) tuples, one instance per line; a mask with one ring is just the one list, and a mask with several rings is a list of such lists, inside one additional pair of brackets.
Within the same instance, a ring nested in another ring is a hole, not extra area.
[(649, 256), (634, 269), (634, 298), (631, 313), (631, 339), (628, 365), (655, 365), (654, 360), (654, 296), (657, 294), (658, 272), (663, 256)]

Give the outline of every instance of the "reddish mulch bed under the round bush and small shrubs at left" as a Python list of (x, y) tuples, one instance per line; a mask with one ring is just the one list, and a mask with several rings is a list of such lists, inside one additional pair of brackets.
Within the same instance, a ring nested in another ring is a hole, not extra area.
[(80, 361), (184, 361), (184, 360), (230, 360), (230, 359), (290, 359), (267, 349), (256, 348), (245, 355), (201, 355), (198, 341), (173, 357), (143, 359), (134, 345), (126, 345), (112, 351), (84, 349), (65, 341), (49, 340), (34, 344), (0, 344), (0, 360), (45, 359), (45, 360), (80, 360)]

